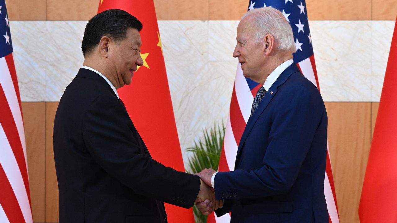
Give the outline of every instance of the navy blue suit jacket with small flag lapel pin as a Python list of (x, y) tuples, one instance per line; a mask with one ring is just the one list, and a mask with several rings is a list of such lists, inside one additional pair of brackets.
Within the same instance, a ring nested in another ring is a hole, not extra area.
[(232, 223), (328, 222), (324, 197), (327, 113), (317, 88), (293, 63), (248, 120), (235, 170), (214, 179)]

